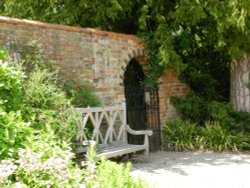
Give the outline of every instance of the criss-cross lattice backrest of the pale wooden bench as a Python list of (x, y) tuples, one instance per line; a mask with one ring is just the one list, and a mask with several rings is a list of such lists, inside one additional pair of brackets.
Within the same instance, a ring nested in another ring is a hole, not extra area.
[[(99, 145), (127, 143), (126, 103), (108, 107), (76, 108), (80, 113), (77, 140), (94, 140)], [(91, 133), (87, 134), (91, 130)]]

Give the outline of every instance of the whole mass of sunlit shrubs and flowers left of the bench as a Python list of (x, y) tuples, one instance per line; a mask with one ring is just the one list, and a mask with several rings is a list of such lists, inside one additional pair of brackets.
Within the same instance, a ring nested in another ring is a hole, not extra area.
[(27, 75), (1, 53), (0, 187), (142, 187), (123, 165), (103, 160), (79, 168), (72, 153), (76, 115), (56, 72), (34, 66)]

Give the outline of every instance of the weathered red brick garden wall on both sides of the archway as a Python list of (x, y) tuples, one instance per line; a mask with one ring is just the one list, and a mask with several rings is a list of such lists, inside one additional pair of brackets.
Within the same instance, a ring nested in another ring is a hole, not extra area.
[[(91, 82), (104, 104), (117, 104), (124, 99), (127, 64), (132, 58), (140, 61), (146, 57), (140, 40), (133, 35), (0, 17), (0, 46), (12, 48), (33, 40), (43, 49), (45, 58), (59, 65), (65, 79)], [(170, 96), (185, 96), (188, 89), (171, 70), (160, 80), (163, 121), (174, 113)]]

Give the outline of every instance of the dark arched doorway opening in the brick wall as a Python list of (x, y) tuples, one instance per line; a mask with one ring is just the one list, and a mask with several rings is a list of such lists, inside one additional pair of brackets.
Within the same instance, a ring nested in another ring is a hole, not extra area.
[[(143, 86), (144, 73), (136, 59), (127, 65), (124, 78), (127, 122), (134, 130), (146, 129), (146, 103)], [(143, 144), (143, 136), (129, 135), (129, 143)]]

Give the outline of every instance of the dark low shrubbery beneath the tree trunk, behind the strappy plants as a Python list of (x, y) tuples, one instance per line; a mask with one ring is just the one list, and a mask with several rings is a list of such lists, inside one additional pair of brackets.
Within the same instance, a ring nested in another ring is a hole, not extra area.
[(201, 126), (206, 121), (217, 121), (230, 132), (250, 132), (250, 114), (234, 112), (230, 103), (205, 101), (197, 95), (189, 95), (186, 99), (172, 97), (171, 102), (185, 120)]

